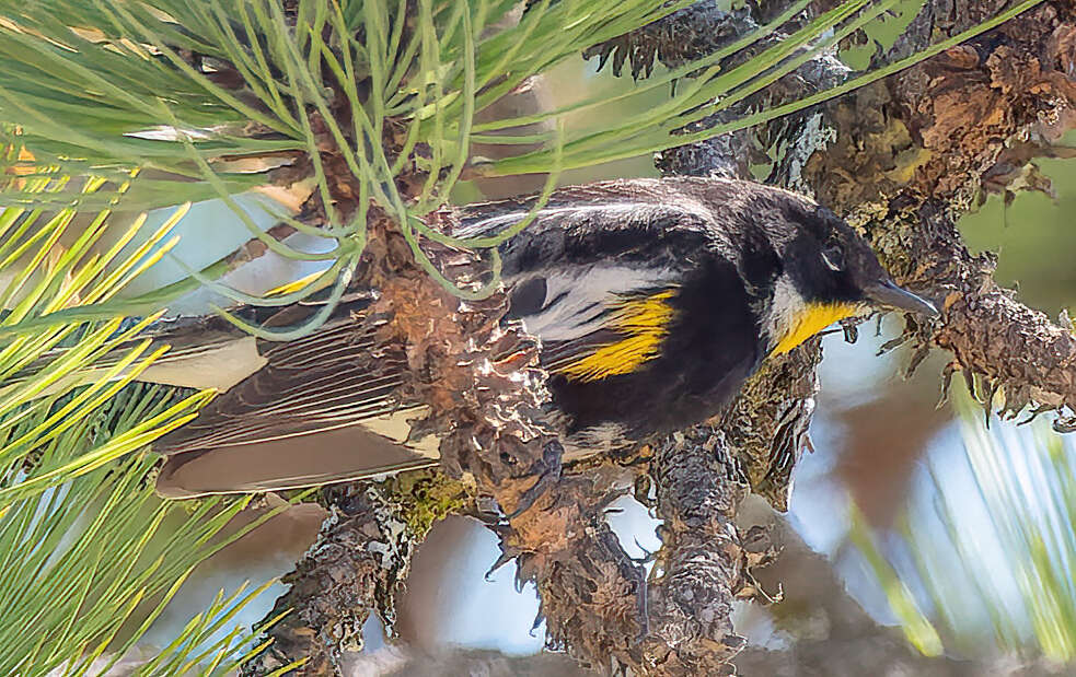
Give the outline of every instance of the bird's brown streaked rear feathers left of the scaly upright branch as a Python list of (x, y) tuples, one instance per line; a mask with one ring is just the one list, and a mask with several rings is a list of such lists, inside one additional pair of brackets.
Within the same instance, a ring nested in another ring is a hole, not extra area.
[(265, 366), (210, 402), (154, 450), (167, 497), (297, 488), (436, 463), (413, 443), (421, 412), (401, 399), (405, 357), (375, 320), (354, 313), (315, 334), (259, 345)]

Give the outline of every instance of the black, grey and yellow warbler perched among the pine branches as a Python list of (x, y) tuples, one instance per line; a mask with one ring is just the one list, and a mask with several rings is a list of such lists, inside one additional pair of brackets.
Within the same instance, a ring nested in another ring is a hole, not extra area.
[[(867, 242), (814, 201), (720, 178), (632, 179), (472, 205), (453, 235), (504, 232), (506, 320), (541, 341), (549, 416), (568, 454), (645, 442), (719, 413), (768, 355), (872, 306), (936, 315)], [(250, 338), (219, 359), (239, 380), (154, 444), (165, 495), (296, 488), (436, 463), (409, 443), (402, 360), (377, 354), (361, 299), (319, 332)], [(250, 373), (245, 373), (246, 372)]]

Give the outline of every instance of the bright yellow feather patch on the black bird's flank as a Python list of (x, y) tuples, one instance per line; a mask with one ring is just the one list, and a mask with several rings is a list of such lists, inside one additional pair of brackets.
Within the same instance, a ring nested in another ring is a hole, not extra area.
[(615, 303), (612, 307), (616, 310), (605, 328), (623, 334), (624, 338), (601, 346), (556, 371), (569, 381), (586, 383), (628, 374), (644, 362), (657, 358), (675, 314), (668, 303), (673, 295), (674, 291), (663, 291), (645, 299)]

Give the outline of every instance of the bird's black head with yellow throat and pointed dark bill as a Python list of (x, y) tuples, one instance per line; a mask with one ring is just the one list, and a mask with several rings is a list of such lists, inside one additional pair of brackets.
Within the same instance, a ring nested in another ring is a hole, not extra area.
[(933, 303), (893, 282), (867, 241), (829, 209), (790, 200), (783, 215), (785, 232), (776, 237), (783, 273), (771, 310), (775, 353), (870, 307), (938, 314)]

